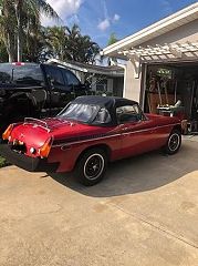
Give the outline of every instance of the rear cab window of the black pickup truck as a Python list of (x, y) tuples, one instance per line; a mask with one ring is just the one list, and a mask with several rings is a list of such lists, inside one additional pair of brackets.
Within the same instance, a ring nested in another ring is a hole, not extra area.
[(0, 84), (15, 86), (42, 85), (43, 74), (39, 64), (0, 63)]

